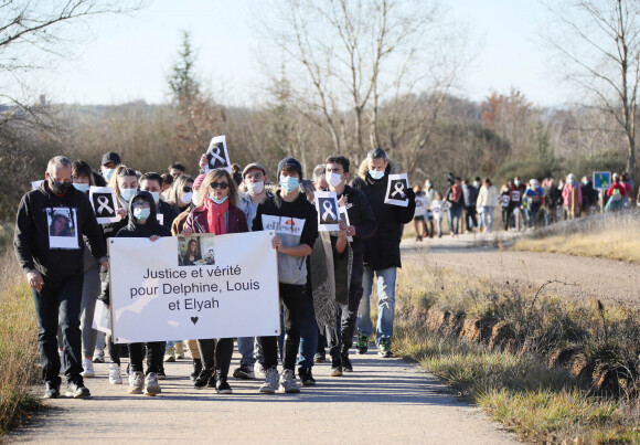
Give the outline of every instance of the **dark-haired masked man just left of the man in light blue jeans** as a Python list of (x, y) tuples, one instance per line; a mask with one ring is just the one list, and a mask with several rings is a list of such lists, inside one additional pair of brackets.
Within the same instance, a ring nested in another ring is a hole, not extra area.
[(331, 339), (329, 345), (331, 348), (331, 368), (342, 373), (342, 371), (353, 371), (353, 365), (349, 359), (349, 349), (353, 346), (353, 331), (358, 318), (358, 307), (362, 299), (364, 241), (372, 237), (375, 233), (375, 218), (364, 193), (345, 184), (349, 178), (349, 159), (344, 156), (330, 156), (324, 163), (327, 165), (326, 180), (329, 183), (329, 190), (334, 191), (340, 205), (346, 208), (350, 224), (346, 227), (346, 236), (353, 237), (353, 242), (351, 243), (351, 250), (353, 252), (351, 280), (349, 284), (349, 295), (345, 298), (348, 304), (341, 308), (341, 326), (338, 338)]

